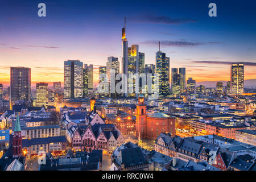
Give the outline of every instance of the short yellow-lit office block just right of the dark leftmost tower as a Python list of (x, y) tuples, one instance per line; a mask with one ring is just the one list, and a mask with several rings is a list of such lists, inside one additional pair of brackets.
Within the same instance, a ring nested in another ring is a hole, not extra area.
[(36, 106), (46, 106), (48, 102), (48, 84), (44, 82), (36, 83)]

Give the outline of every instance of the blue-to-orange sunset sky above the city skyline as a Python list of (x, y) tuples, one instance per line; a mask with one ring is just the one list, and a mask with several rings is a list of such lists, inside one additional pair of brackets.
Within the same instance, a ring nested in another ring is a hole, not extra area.
[[(46, 17), (38, 3), (46, 3)], [(217, 4), (217, 17), (208, 5)], [(245, 63), (245, 80), (256, 79), (255, 1), (0, 1), (0, 82), (10, 67), (31, 68), (31, 81), (64, 80), (64, 61), (99, 65), (108, 56), (121, 63), (121, 29), (155, 64), (158, 42), (171, 68), (185, 67), (186, 78), (227, 81), (230, 63)]]

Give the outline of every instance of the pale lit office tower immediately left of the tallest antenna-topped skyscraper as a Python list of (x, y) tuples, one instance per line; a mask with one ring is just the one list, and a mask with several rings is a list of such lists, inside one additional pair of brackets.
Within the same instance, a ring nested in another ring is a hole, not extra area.
[[(115, 85), (117, 85), (117, 82), (115, 80), (115, 76), (117, 76), (117, 74), (119, 73), (119, 69), (120, 69), (120, 64), (118, 61), (117, 57), (108, 57), (108, 61), (106, 63), (106, 74), (108, 75), (109, 78), (109, 93), (110, 93), (110, 97), (112, 98), (116, 98), (119, 97), (120, 94), (117, 94), (117, 92), (115, 92)], [(111, 86), (114, 90), (111, 90)]]

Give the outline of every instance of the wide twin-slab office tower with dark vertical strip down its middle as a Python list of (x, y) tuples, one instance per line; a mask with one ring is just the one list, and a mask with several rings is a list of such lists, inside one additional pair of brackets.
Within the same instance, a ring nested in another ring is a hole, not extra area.
[(64, 61), (64, 98), (82, 97), (82, 62)]

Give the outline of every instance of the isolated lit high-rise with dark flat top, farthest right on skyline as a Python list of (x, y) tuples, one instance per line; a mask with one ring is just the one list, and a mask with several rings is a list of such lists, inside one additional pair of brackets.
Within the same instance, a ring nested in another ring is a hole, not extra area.
[(237, 63), (231, 64), (230, 89), (232, 94), (241, 95), (243, 93), (244, 65)]

